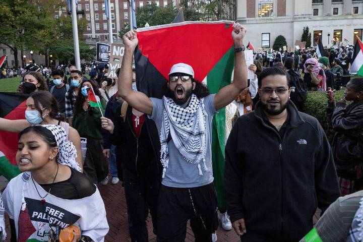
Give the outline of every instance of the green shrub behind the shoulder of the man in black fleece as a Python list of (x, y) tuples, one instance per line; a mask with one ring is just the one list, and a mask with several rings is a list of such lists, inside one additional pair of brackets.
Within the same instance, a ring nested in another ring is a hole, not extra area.
[[(336, 91), (335, 101), (343, 98), (344, 89)], [(328, 99), (325, 96), (325, 92), (309, 91), (308, 98), (304, 103), (304, 112), (308, 113), (319, 120), (320, 125), (323, 127), (325, 134), (331, 143), (333, 139), (333, 131), (330, 126), (330, 120), (326, 113), (326, 107), (328, 105)]]

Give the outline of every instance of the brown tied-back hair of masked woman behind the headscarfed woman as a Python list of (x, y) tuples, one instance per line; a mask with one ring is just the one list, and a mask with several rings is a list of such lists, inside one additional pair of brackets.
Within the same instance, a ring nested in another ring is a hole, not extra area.
[(58, 115), (58, 103), (55, 97), (48, 91), (32, 92), (29, 97), (34, 99), (36, 109), (43, 115), (40, 104), (43, 108), (49, 108), (49, 117), (55, 118)]

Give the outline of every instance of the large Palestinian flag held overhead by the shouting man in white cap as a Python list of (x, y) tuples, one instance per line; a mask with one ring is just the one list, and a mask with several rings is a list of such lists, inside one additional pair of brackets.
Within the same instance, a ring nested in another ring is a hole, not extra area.
[[(195, 80), (211, 93), (230, 84), (234, 67), (232, 21), (182, 22), (137, 29), (135, 50), (137, 89), (149, 97), (161, 98), (172, 65), (186, 63)], [(212, 161), (215, 187), (224, 193), (225, 108), (213, 118)], [(223, 196), (217, 192), (218, 197)], [(219, 208), (224, 208), (219, 204)]]

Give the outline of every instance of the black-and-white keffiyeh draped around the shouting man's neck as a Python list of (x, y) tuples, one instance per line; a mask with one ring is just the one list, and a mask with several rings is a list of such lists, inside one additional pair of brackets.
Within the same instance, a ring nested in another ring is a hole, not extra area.
[(169, 133), (173, 143), (183, 158), (193, 164), (198, 164), (199, 174), (203, 175), (200, 161), (203, 161), (204, 170), (206, 154), (206, 112), (203, 98), (198, 99), (192, 94), (187, 107), (177, 105), (171, 98), (163, 97), (164, 118), (160, 131), (162, 177), (169, 164), (169, 150), (167, 139)]

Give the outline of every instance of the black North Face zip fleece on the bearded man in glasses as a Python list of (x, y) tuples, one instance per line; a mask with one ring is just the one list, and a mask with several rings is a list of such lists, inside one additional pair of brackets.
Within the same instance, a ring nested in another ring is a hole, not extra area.
[(226, 203), (231, 221), (247, 232), (298, 241), (339, 196), (332, 152), (318, 120), (289, 101), (282, 137), (261, 107), (240, 116), (225, 146)]

